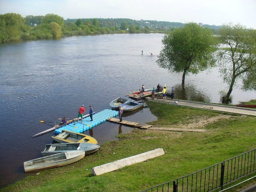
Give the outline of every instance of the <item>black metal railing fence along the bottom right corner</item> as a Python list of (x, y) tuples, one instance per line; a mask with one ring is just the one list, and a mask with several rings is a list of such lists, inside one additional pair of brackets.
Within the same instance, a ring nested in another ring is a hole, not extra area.
[(208, 192), (256, 170), (256, 148), (142, 192)]

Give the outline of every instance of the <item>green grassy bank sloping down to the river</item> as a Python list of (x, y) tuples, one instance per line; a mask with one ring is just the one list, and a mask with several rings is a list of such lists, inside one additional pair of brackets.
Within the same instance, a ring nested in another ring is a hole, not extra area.
[[(138, 192), (256, 147), (256, 117), (151, 102), (148, 106), (158, 117), (151, 124), (207, 131), (168, 132), (135, 128), (128, 134), (119, 134), (120, 140), (103, 144), (96, 154), (68, 166), (43, 170), (40, 174), (31, 173), (0, 191)], [(200, 123), (202, 121), (204, 123)], [(93, 176), (90, 170), (156, 148), (163, 148), (165, 154), (100, 176)]]

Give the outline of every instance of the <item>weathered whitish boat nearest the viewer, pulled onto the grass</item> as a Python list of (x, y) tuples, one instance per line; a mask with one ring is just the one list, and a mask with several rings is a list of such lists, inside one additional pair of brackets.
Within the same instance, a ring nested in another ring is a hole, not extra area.
[(25, 172), (39, 171), (43, 169), (55, 168), (77, 162), (84, 158), (85, 152), (72, 150), (57, 153), (24, 162)]

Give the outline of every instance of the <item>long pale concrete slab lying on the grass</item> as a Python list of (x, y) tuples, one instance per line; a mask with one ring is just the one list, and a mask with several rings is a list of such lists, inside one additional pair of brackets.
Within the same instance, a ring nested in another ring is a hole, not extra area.
[(118, 170), (124, 166), (136, 164), (136, 163), (146, 161), (148, 159), (152, 159), (152, 158), (155, 158), (155, 157), (158, 157), (161, 155), (164, 155), (164, 150), (162, 148), (158, 148), (158, 149), (148, 151), (148, 152), (145, 152), (142, 154), (138, 154), (138, 155), (131, 156), (128, 158), (124, 158), (124, 159), (120, 159), (120, 160), (117, 160), (114, 162), (96, 166), (96, 167), (92, 168), (91, 170), (95, 176), (101, 175), (101, 174), (104, 174), (107, 172)]

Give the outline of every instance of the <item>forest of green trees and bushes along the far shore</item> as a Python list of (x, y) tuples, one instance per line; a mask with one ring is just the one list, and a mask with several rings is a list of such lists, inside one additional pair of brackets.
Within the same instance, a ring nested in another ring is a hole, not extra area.
[[(7, 13), (0, 15), (0, 42), (60, 38), (62, 36), (115, 33), (169, 33), (183, 27), (180, 22), (132, 20), (127, 18), (82, 18), (64, 20), (56, 14), (26, 16)], [(220, 26), (200, 24), (214, 34)]]

